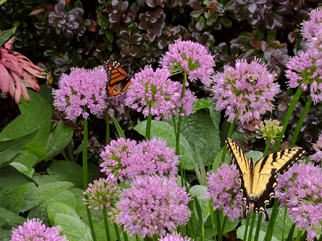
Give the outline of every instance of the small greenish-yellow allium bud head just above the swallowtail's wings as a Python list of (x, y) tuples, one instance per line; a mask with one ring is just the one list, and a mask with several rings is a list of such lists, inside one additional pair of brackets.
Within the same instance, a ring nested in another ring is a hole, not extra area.
[(267, 138), (270, 139), (276, 139), (278, 138), (279, 133), (282, 132), (283, 126), (279, 125), (278, 120), (264, 120), (260, 121), (259, 126), (255, 126), (257, 134), (259, 134), (256, 138), (264, 138), (266, 140)]

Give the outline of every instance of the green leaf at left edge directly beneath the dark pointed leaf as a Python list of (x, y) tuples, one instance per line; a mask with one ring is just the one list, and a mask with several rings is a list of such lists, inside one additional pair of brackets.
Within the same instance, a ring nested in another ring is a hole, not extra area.
[(6, 208), (14, 213), (18, 213), (24, 204), (27, 184), (16, 186), (8, 190), (0, 191), (1, 207)]

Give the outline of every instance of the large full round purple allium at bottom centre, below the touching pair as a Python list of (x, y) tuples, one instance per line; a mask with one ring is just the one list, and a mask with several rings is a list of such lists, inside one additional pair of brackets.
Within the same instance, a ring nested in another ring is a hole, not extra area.
[(174, 177), (137, 177), (131, 188), (121, 192), (121, 197), (114, 221), (131, 232), (129, 237), (137, 232), (142, 238), (157, 233), (166, 235), (166, 230), (174, 232), (178, 225), (185, 225), (191, 215), (189, 196)]

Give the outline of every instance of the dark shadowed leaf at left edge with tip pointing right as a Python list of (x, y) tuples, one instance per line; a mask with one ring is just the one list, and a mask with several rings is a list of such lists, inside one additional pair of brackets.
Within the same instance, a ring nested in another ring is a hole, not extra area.
[(14, 166), (7, 165), (0, 168), (0, 191), (33, 182), (33, 179), (19, 172)]

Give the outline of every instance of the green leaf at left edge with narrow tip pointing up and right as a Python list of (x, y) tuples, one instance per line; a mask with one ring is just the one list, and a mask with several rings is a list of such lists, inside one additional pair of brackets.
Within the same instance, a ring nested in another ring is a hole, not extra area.
[(20, 136), (11, 140), (0, 141), (0, 166), (10, 161), (18, 154), (37, 134), (38, 128), (25, 136)]

